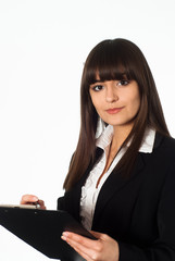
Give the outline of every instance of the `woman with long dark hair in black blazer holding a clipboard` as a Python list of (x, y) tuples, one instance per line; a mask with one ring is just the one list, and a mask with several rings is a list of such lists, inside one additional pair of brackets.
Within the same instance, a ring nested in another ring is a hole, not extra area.
[[(97, 45), (80, 98), (79, 140), (58, 209), (98, 240), (70, 232), (62, 239), (88, 261), (175, 260), (175, 140), (139, 48), (125, 39)], [(25, 195), (22, 203), (37, 200)]]

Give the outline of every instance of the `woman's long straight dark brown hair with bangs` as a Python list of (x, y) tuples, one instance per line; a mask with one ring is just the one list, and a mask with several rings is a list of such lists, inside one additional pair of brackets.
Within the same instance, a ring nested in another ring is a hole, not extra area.
[(91, 102), (89, 85), (96, 83), (97, 72), (101, 82), (111, 79), (134, 79), (139, 86), (140, 108), (134, 127), (123, 146), (132, 138), (132, 144), (116, 169), (128, 174), (135, 163), (146, 127), (170, 136), (161, 102), (149, 65), (140, 49), (129, 40), (114, 39), (98, 44), (89, 53), (82, 76), (80, 86), (80, 133), (73, 156), (65, 190), (70, 190), (84, 175), (90, 162), (95, 161), (96, 130), (98, 114)]

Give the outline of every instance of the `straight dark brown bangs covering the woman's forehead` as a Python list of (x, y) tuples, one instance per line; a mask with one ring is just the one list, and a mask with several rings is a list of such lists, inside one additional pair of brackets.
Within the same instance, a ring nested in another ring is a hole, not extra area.
[[(133, 60), (133, 59), (132, 59)], [(135, 79), (133, 61), (118, 49), (104, 45), (91, 53), (87, 61), (86, 83), (91, 85), (97, 80)]]

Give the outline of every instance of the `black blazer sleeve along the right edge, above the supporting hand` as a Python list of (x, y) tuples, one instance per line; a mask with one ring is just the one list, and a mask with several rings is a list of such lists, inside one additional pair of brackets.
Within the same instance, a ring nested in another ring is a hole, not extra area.
[(160, 197), (158, 229), (159, 238), (147, 247), (118, 241), (120, 261), (175, 260), (175, 163), (170, 166)]

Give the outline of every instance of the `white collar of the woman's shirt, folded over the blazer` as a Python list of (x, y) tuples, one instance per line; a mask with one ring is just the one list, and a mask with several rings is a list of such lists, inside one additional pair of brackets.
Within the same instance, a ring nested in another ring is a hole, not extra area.
[[(105, 150), (107, 147), (111, 144), (113, 137), (113, 126), (108, 125), (99, 138), (96, 140), (96, 146)], [(153, 144), (155, 139), (155, 130), (152, 128), (147, 128), (143, 135), (143, 139), (141, 146), (139, 148), (139, 152), (151, 153), (153, 150)], [(130, 141), (126, 145), (127, 147), (130, 145)]]

